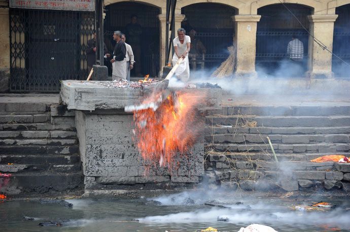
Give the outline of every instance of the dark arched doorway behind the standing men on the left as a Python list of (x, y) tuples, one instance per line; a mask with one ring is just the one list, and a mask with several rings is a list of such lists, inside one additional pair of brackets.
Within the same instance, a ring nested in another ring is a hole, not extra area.
[[(137, 16), (137, 23), (142, 27), (142, 34), (139, 36), (141, 54), (135, 56), (134, 69), (131, 70), (131, 77), (141, 77), (146, 74), (157, 76), (160, 67), (160, 25), (158, 15), (160, 9), (141, 3), (122, 2), (106, 7), (106, 19), (104, 20), (104, 42), (109, 51), (113, 52), (115, 41), (113, 32), (120, 30), (126, 34), (126, 42), (130, 38), (126, 25), (131, 22), (132, 16)], [(130, 40), (129, 40), (130, 41)], [(134, 52), (135, 53), (135, 52)], [(136, 66), (138, 67), (136, 68)], [(138, 73), (137, 73), (138, 72)]]

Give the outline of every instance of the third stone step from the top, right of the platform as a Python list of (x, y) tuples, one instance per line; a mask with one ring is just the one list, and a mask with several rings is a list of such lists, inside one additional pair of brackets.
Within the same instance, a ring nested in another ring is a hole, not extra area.
[(329, 127), (240, 127), (240, 126), (206, 126), (205, 134), (350, 134), (350, 126), (329, 126)]

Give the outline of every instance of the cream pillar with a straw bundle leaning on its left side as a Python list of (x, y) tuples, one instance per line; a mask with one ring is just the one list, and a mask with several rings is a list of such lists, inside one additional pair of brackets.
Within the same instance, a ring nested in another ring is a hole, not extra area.
[(237, 77), (256, 76), (255, 53), (256, 31), (260, 15), (234, 15), (235, 42), (237, 46), (236, 73)]

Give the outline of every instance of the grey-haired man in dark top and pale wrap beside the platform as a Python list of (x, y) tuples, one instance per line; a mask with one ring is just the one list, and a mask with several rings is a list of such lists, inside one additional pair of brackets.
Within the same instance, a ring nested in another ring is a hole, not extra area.
[(112, 63), (112, 78), (113, 80), (119, 81), (126, 79), (126, 61), (124, 60), (126, 55), (126, 46), (121, 39), (122, 32), (115, 31), (113, 39), (117, 42), (114, 47)]

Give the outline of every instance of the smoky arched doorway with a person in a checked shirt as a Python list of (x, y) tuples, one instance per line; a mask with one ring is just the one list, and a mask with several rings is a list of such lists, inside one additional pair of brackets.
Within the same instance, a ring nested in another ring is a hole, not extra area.
[[(286, 9), (286, 7), (298, 20)], [(311, 9), (298, 4), (275, 4), (261, 7), (257, 25), (256, 70), (273, 77), (301, 77), (307, 71), (308, 29), (307, 16)], [(303, 58), (291, 60), (287, 53), (292, 37), (303, 43)]]

